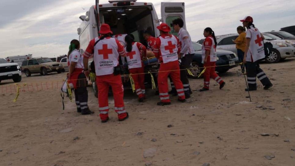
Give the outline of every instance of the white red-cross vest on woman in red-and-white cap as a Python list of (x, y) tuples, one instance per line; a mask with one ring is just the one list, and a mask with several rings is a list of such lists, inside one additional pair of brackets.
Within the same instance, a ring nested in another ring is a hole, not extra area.
[(247, 31), (251, 33), (251, 40), (249, 44), (249, 50), (247, 52), (246, 61), (252, 62), (252, 57), (253, 62), (255, 62), (265, 57), (264, 43), (261, 37), (261, 33), (260, 31), (258, 31), (257, 28), (251, 26), (251, 29), (248, 29)]

